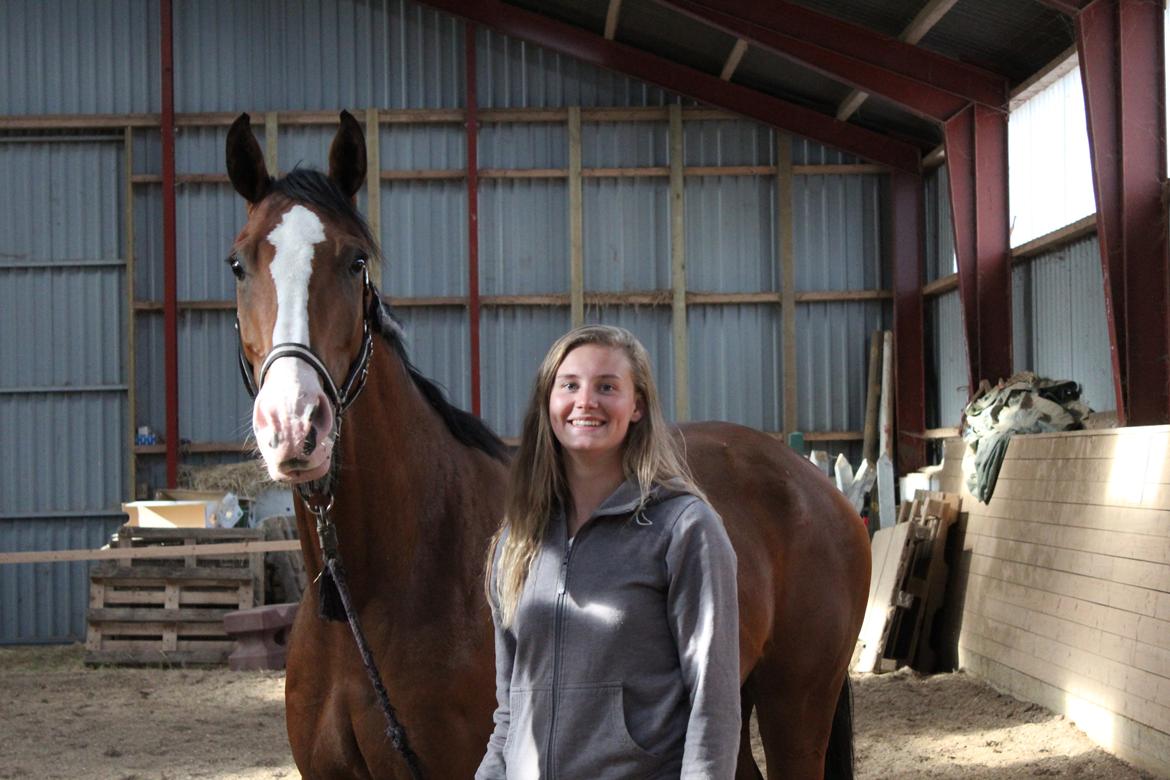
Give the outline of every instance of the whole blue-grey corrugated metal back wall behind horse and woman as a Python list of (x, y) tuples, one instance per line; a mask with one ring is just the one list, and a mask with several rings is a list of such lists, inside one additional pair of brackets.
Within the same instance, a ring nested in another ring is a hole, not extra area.
[[(11, 73), (25, 74), (0, 84), (0, 115), (160, 110), (158, 4), (152, 0), (0, 4), (0, 30)], [(399, 0), (321, 1), (296, 8), (276, 0), (176, 4), (176, 109), (460, 108), (466, 88), (464, 30), (461, 21)], [(476, 43), (479, 103), (484, 109), (662, 106), (675, 99), (632, 78), (489, 30), (477, 30)], [(75, 90), (85, 84), (90, 88)], [(263, 145), (262, 117), (254, 115), (253, 120)], [(280, 167), (323, 167), (331, 134), (332, 127), (281, 125)], [(581, 136), (585, 167), (669, 164), (668, 125), (662, 120), (585, 122)], [(776, 164), (776, 133), (751, 122), (688, 120), (683, 136), (689, 166)], [(178, 173), (221, 173), (225, 137), (226, 127), (180, 126)], [(135, 174), (159, 174), (158, 132), (136, 130), (132, 140)], [(0, 175), (30, 187), (14, 200), (46, 208), (0, 214), (0, 254), (7, 258), (9, 253), (25, 253), (56, 265), (0, 265), (0, 324), (6, 334), (0, 351), (23, 350), (0, 356), (0, 365), (20, 368), (0, 380), (5, 419), (19, 421), (6, 423), (5, 440), (29, 453), (0, 472), (0, 550), (92, 547), (117, 525), (113, 512), (128, 497), (131, 422), (158, 432), (165, 427), (163, 315), (152, 308), (163, 299), (161, 187), (152, 180), (133, 186), (133, 283), (136, 298), (151, 305), (133, 315), (137, 398), (136, 419), (130, 421), (122, 136), (110, 144), (8, 141), (0, 139)], [(466, 166), (460, 124), (383, 125), (379, 146), (384, 170)], [(565, 168), (567, 129), (564, 123), (487, 123), (477, 151), (483, 168)], [(62, 157), (70, 154), (75, 157)], [(800, 139), (793, 140), (792, 157), (798, 165), (855, 161)], [(36, 166), (63, 173), (37, 181), (27, 173)], [(77, 171), (84, 175), (73, 175)], [(796, 178), (799, 291), (887, 287), (881, 191), (878, 175)], [(567, 294), (566, 180), (486, 178), (479, 195), (481, 294)], [(177, 198), (179, 299), (233, 299), (234, 282), (223, 257), (243, 222), (239, 198), (216, 182), (180, 184)], [(364, 206), (365, 196), (359, 200)], [(464, 181), (383, 181), (380, 203), (384, 291), (395, 297), (464, 296)], [(778, 291), (777, 210), (772, 174), (688, 177), (688, 289)], [(586, 291), (669, 289), (665, 177), (586, 178), (583, 212)], [(49, 243), (30, 243), (26, 235)], [(98, 264), (76, 268), (95, 261)], [(30, 309), (41, 299), (55, 302), (51, 316)], [(466, 309), (401, 306), (397, 313), (406, 325), (415, 364), (446, 386), (456, 403), (470, 406)], [(669, 306), (591, 305), (585, 316), (589, 322), (629, 327), (642, 339), (654, 357), (666, 410), (673, 414)], [(888, 304), (882, 302), (799, 304), (797, 419), (803, 429), (860, 430), (869, 332), (889, 320)], [(501, 434), (518, 433), (536, 366), (569, 325), (567, 306), (483, 308), (483, 412)], [(26, 330), (23, 346), (7, 336)], [(689, 306), (691, 416), (782, 429), (780, 333), (775, 304)], [(181, 436), (194, 442), (241, 441), (250, 403), (234, 364), (232, 312), (180, 311), (179, 352)], [(37, 358), (49, 368), (37, 368)], [(73, 389), (44, 392), (48, 385)], [(78, 392), (82, 385), (98, 389)], [(82, 426), (76, 424), (78, 419)], [(76, 446), (46, 447), (49, 439)], [(833, 451), (851, 448), (826, 444)], [(185, 462), (238, 457), (208, 454)], [(160, 455), (139, 455), (138, 483), (159, 486), (163, 465)], [(16, 519), (35, 513), (40, 515)], [(0, 567), (0, 643), (80, 639), (84, 570), (84, 565)]]

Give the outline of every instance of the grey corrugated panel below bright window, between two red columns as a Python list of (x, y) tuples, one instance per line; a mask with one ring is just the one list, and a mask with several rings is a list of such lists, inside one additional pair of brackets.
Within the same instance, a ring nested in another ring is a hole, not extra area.
[(1013, 277), (1023, 309), (1014, 324), (1023, 340), (1016, 370), (1075, 380), (1086, 403), (1115, 409), (1096, 236), (1017, 265)]

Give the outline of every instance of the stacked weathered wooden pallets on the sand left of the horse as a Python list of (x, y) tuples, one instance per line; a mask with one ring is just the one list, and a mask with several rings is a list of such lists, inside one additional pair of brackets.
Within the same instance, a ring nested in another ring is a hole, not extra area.
[[(123, 526), (112, 545), (178, 547), (262, 538), (262, 531), (249, 529)], [(180, 551), (174, 558), (128, 558), (94, 566), (85, 663), (223, 663), (235, 647), (223, 630), (223, 615), (262, 599), (263, 558), (263, 553), (207, 557)]]

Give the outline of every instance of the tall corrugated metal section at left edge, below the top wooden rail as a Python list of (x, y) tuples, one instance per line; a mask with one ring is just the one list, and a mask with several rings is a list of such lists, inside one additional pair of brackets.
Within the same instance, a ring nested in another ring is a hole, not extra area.
[[(118, 523), (128, 463), (121, 166), (116, 143), (0, 139), (0, 550), (99, 545)], [(78, 637), (87, 572), (0, 567), (0, 641)]]

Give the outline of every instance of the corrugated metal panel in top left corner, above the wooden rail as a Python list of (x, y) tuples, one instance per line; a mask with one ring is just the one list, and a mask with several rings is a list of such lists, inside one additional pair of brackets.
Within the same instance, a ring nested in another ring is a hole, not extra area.
[(0, 115), (159, 111), (158, 42), (156, 0), (4, 0)]

